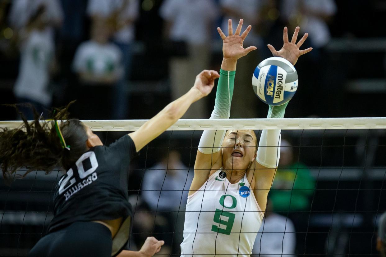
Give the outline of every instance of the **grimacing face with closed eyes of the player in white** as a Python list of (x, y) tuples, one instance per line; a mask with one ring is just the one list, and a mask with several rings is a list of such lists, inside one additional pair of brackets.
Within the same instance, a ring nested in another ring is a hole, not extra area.
[(223, 166), (245, 170), (256, 158), (256, 135), (251, 130), (230, 130), (222, 143)]

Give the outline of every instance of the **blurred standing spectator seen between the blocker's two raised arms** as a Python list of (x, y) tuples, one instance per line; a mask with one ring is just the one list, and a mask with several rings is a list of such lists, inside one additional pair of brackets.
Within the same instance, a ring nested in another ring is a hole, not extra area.
[[(232, 19), (234, 31), (241, 18), (244, 19), (242, 32), (248, 25), (252, 25), (252, 29), (243, 45), (245, 48), (254, 45), (257, 47), (257, 50), (252, 51), (237, 62), (237, 72), (235, 76), (235, 87), (237, 87), (237, 90), (234, 91), (233, 102), (242, 102), (243, 104), (235, 104), (232, 106), (231, 117), (257, 118), (257, 110), (259, 108), (256, 106), (259, 104), (259, 100), (255, 94), (252, 93), (251, 77), (261, 59), (271, 57), (271, 54), (269, 54), (269, 56), (263, 54), (264, 51), (267, 52), (267, 47), (263, 44), (261, 33), (267, 33), (264, 32), (264, 30), (269, 30), (265, 12), (268, 12), (266, 10), (270, 9), (269, 6), (273, 5), (273, 1), (220, 0), (219, 3), (224, 15), (221, 29), (226, 35), (228, 34), (228, 19)], [(272, 8), (276, 10), (274, 7)], [(249, 94), (250, 92), (252, 94)]]

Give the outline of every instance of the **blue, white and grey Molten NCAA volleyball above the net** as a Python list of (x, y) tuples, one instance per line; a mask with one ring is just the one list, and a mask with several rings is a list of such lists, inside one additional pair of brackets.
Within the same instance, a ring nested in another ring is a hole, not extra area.
[(252, 87), (261, 101), (273, 106), (282, 105), (295, 95), (298, 73), (288, 60), (270, 57), (256, 67)]

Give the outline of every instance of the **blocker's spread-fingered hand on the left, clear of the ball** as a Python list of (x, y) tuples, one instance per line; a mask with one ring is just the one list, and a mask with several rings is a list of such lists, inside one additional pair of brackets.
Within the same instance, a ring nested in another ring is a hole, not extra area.
[(240, 19), (239, 25), (233, 34), (232, 20), (229, 19), (228, 36), (225, 36), (219, 27), (217, 28), (218, 34), (220, 34), (220, 37), (223, 40), (222, 53), (224, 55), (224, 59), (237, 61), (237, 59), (240, 59), (252, 50), (256, 49), (255, 46), (250, 46), (247, 48), (244, 48), (243, 46), (244, 39), (247, 37), (249, 31), (251, 31), (252, 28), (252, 26), (249, 25), (247, 29), (245, 29), (245, 31), (240, 35), (243, 22), (244, 20)]

